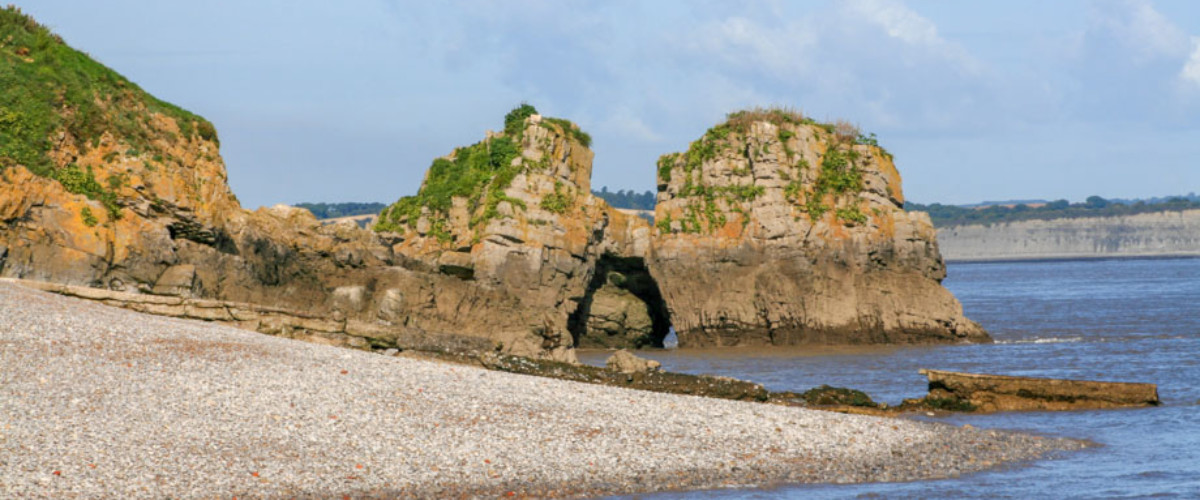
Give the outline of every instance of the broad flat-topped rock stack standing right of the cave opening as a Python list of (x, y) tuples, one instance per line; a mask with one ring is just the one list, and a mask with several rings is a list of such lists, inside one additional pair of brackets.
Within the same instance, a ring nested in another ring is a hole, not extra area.
[(649, 269), (683, 347), (989, 338), (941, 287), (892, 156), (852, 127), (736, 113), (658, 183)]

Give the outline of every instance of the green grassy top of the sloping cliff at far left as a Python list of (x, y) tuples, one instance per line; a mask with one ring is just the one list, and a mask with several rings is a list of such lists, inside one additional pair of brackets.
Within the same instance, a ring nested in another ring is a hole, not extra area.
[(184, 139), (216, 141), (208, 120), (146, 94), (19, 8), (0, 10), (0, 168), (22, 164), (54, 176), (66, 165), (54, 163), (53, 149), (65, 139), (80, 151), (95, 147), (104, 132), (127, 147), (154, 151), (164, 134), (179, 139), (151, 125), (155, 113), (174, 119)]

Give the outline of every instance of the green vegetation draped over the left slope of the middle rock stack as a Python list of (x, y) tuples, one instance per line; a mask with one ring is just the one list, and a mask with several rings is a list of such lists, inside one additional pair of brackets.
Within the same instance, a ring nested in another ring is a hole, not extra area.
[[(544, 157), (539, 164), (517, 161), (521, 158), (524, 124), (538, 110), (522, 103), (504, 118), (504, 133), (484, 139), (469, 146), (458, 147), (449, 158), (437, 158), (425, 175), (425, 182), (415, 195), (404, 197), (379, 213), (377, 231), (406, 231), (415, 229), (422, 213), (428, 217), (430, 234), (443, 243), (449, 243), (452, 235), (445, 229), (449, 225), (450, 209), (455, 198), (466, 200), (470, 217), (470, 228), (482, 228), (487, 222), (500, 216), (499, 204), (508, 201), (514, 209), (527, 210), (526, 203), (504, 194), (517, 174), (529, 168), (545, 167), (550, 161)], [(574, 138), (584, 147), (590, 144), (590, 137), (568, 120), (542, 118), (540, 122), (557, 134)], [(565, 211), (565, 201), (559, 199), (565, 194), (556, 189), (542, 207), (552, 212)], [(548, 205), (547, 205), (548, 204)]]

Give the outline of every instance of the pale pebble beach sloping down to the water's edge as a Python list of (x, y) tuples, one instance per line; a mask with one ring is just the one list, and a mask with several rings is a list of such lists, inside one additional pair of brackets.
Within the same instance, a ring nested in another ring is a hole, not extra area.
[(1085, 447), (632, 391), (0, 283), (0, 496), (596, 496), (954, 477)]

